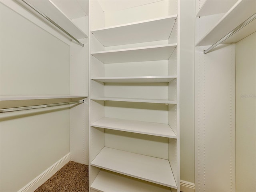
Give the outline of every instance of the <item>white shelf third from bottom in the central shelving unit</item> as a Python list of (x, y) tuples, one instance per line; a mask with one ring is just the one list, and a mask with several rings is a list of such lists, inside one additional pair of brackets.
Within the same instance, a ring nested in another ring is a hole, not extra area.
[(176, 134), (173, 132), (170, 126), (168, 124), (162, 123), (152, 123), (104, 117), (92, 123), (91, 126), (167, 138), (177, 138)]

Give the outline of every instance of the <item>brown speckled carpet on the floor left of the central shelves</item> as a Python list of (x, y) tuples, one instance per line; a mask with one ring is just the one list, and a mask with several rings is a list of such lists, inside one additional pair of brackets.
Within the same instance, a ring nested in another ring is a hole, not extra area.
[(68, 162), (34, 192), (88, 192), (88, 166)]

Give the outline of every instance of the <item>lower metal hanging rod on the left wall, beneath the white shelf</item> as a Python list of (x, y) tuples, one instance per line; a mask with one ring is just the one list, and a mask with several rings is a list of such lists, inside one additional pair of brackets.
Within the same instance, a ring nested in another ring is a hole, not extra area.
[(38, 109), (38, 108), (53, 107), (53, 106), (68, 105), (68, 104), (77, 104), (77, 103), (83, 103), (83, 102), (84, 102), (84, 100), (74, 101), (74, 102), (66, 102), (66, 103), (54, 103), (54, 104), (46, 104), (46, 105), (34, 105), (34, 106), (26, 106), (26, 107), (6, 108), (6, 109), (0, 109), (0, 113), (12, 112), (12, 111), (22, 111), (22, 110), (28, 110), (28, 109)]

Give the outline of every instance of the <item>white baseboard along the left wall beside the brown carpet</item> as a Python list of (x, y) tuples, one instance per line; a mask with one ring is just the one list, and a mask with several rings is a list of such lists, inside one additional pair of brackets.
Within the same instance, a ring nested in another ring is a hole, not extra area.
[(46, 182), (51, 176), (53, 176), (60, 168), (62, 168), (65, 164), (70, 161), (70, 153), (66, 154), (52, 166), (50, 166), (47, 170), (42, 172), (38, 177), (20, 189), (18, 192), (34, 192), (39, 186), (41, 186), (44, 182)]

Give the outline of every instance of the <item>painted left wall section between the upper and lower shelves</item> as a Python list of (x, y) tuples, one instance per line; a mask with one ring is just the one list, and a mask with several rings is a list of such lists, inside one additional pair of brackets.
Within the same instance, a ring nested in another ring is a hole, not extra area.
[(70, 46), (4, 4), (0, 8), (0, 94), (69, 94)]

